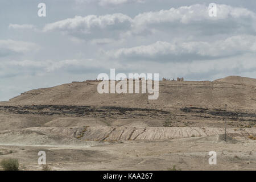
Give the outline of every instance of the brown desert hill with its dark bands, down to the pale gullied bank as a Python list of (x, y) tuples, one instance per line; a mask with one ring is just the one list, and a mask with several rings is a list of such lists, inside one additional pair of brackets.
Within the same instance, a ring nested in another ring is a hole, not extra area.
[[(30, 90), (0, 102), (0, 130), (28, 127), (253, 127), (254, 78), (160, 81), (158, 100), (147, 94), (99, 94), (98, 81)], [(225, 104), (228, 111), (225, 112)], [(2, 114), (1, 114), (2, 113)]]

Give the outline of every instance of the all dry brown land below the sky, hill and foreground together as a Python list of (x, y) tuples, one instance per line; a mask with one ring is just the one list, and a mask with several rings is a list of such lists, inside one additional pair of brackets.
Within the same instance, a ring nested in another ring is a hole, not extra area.
[[(256, 170), (256, 79), (160, 81), (158, 100), (99, 94), (97, 84), (0, 102), (0, 160), (42, 170), (38, 152), (45, 151), (52, 170)], [(209, 151), (217, 152), (216, 165)]]

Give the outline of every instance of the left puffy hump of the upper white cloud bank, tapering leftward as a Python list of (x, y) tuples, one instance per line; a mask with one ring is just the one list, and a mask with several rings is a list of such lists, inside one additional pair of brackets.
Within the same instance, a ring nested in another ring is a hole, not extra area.
[(130, 28), (131, 18), (127, 15), (107, 14), (103, 16), (75, 16), (46, 24), (43, 31), (59, 30), (81, 39), (118, 38), (120, 32)]

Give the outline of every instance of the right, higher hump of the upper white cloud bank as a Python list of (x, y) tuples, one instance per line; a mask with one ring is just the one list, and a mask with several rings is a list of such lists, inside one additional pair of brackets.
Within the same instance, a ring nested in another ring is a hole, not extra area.
[[(245, 18), (251, 20), (251, 22), (243, 25)], [(192, 6), (182, 6), (177, 9), (171, 8), (169, 10), (142, 13), (135, 16), (133, 22), (134, 32), (147, 30), (149, 26), (158, 29), (159, 26), (167, 26), (168, 24), (171, 26), (170, 29), (179, 26), (179, 24), (185, 24), (187, 26), (192, 24), (192, 26), (207, 30), (211, 23), (214, 24), (216, 28), (225, 25), (225, 23), (240, 24), (240, 26), (252, 26), (254, 31), (256, 31), (255, 13), (245, 8), (228, 5), (217, 5), (216, 17), (209, 16), (208, 6), (196, 4)], [(228, 28), (228, 30), (230, 29), (228, 26), (225, 28)]]

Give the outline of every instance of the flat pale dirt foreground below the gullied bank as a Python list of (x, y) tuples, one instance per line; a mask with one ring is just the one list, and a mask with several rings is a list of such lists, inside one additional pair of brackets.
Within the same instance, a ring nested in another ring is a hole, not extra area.
[[(0, 146), (13, 150), (3, 158), (18, 158), (21, 169), (42, 170), (38, 152), (46, 151), (52, 170), (255, 170), (255, 142), (216, 143), (217, 137), (164, 141), (112, 142), (99, 146)], [(217, 165), (209, 165), (209, 151), (217, 152)]]

